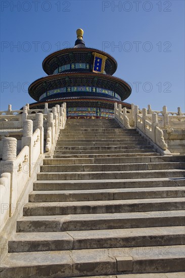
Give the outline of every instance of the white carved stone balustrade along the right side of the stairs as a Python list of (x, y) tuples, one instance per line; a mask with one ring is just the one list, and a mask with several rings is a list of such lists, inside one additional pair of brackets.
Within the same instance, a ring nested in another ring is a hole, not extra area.
[(164, 154), (170, 153), (167, 150), (167, 142), (165, 142), (165, 138), (169, 142), (169, 134), (175, 134), (174, 136), (170, 135), (173, 140), (180, 138), (181, 143), (183, 142), (185, 113), (182, 113), (179, 107), (178, 112), (167, 112), (166, 106), (163, 106), (162, 111), (155, 111), (151, 109), (150, 105), (148, 110), (146, 108), (140, 110), (137, 105), (132, 104), (131, 109), (126, 110), (126, 108), (122, 109), (120, 104), (117, 106), (115, 103), (114, 114), (115, 119), (123, 128), (138, 129), (140, 133), (159, 146)]

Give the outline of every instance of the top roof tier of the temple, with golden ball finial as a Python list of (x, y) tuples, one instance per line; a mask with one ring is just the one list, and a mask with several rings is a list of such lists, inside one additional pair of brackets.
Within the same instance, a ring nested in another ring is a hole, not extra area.
[[(56, 51), (43, 60), (42, 68), (45, 73), (47, 73), (48, 75), (59, 73), (60, 71), (57, 71), (57, 69), (59, 69), (60, 67), (76, 63), (86, 63), (89, 65), (93, 65), (95, 58), (93, 53), (96, 52), (107, 57), (105, 63), (105, 73), (109, 75), (114, 74), (117, 69), (116, 60), (104, 51), (94, 48), (86, 48), (85, 42), (83, 41), (83, 30), (77, 29), (76, 33), (77, 39), (75, 41), (74, 48), (67, 48)], [(75, 71), (75, 69), (73, 71)]]

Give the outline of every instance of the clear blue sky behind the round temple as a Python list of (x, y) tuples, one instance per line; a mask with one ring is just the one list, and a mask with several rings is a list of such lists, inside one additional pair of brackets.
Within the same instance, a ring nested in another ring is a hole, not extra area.
[(183, 0), (2, 0), (1, 110), (34, 102), (27, 88), (46, 75), (43, 59), (73, 47), (77, 28), (87, 47), (117, 60), (114, 75), (132, 85), (126, 102), (184, 111)]

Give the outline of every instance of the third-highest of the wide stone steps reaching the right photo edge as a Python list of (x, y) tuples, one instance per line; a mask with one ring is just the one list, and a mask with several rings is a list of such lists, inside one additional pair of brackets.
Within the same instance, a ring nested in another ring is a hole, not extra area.
[(148, 171), (106, 171), (106, 172), (44, 172), (37, 174), (37, 180), (71, 180), (71, 179), (127, 179), (127, 178), (155, 178), (155, 177), (184, 177), (181, 169), (148, 170)]

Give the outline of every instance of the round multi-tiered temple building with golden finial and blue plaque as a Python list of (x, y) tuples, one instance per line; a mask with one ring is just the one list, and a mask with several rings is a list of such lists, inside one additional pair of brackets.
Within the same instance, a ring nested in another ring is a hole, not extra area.
[(29, 95), (36, 101), (30, 108), (65, 102), (67, 118), (113, 118), (115, 102), (131, 108), (123, 102), (130, 96), (131, 87), (112, 76), (116, 60), (103, 51), (85, 47), (82, 29), (76, 33), (74, 48), (56, 51), (43, 60), (42, 68), (48, 76), (29, 86)]

